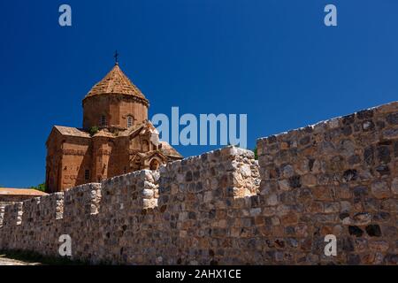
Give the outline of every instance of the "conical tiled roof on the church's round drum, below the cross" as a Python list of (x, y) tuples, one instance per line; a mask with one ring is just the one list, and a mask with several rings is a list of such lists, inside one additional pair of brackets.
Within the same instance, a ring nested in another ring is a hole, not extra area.
[(111, 69), (111, 72), (103, 80), (91, 88), (86, 98), (103, 94), (129, 95), (146, 100), (141, 90), (134, 86), (133, 82), (126, 77), (126, 74), (120, 70), (118, 64)]

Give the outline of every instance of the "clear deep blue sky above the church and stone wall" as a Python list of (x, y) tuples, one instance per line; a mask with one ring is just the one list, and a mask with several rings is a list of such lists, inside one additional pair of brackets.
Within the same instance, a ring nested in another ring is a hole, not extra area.
[[(70, 4), (73, 27), (59, 27)], [(325, 27), (325, 4), (338, 27)], [(120, 66), (150, 117), (247, 113), (256, 138), (398, 100), (398, 1), (0, 2), (0, 185), (45, 180), (51, 126), (81, 126), (81, 99)], [(209, 147), (177, 147), (184, 156)]]

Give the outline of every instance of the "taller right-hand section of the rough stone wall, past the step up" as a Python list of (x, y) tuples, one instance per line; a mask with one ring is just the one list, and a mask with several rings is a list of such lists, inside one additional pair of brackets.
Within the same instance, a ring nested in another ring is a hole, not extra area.
[[(274, 260), (397, 264), (398, 103), (257, 146)], [(323, 255), (326, 234), (337, 237), (338, 256)]]

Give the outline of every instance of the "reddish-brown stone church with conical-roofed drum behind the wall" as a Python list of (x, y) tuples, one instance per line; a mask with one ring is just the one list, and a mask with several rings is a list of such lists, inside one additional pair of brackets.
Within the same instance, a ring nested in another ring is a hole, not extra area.
[(118, 62), (83, 99), (83, 127), (54, 126), (46, 142), (49, 193), (127, 172), (156, 170), (182, 157), (160, 142), (149, 101)]

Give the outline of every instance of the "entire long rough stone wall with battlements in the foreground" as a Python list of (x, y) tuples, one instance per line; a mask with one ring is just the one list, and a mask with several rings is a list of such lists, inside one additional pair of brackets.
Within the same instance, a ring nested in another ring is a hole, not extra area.
[[(0, 249), (91, 264), (397, 264), (398, 103), (0, 208)], [(337, 256), (325, 256), (325, 235)]]

